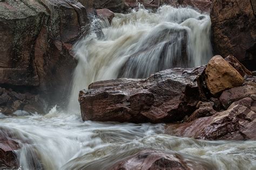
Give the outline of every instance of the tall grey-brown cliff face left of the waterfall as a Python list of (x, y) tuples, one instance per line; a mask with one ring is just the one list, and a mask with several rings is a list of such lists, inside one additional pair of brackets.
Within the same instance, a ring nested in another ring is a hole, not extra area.
[(72, 44), (87, 24), (76, 0), (0, 2), (0, 86), (30, 87), (51, 101), (65, 98), (76, 66)]

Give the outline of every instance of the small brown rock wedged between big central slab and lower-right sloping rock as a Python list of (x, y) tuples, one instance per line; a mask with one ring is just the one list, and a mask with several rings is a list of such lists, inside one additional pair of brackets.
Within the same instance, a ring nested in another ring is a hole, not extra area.
[(187, 122), (194, 121), (200, 117), (215, 115), (217, 111), (213, 109), (213, 105), (213, 102), (199, 102), (199, 108), (193, 112), (193, 114), (188, 118)]

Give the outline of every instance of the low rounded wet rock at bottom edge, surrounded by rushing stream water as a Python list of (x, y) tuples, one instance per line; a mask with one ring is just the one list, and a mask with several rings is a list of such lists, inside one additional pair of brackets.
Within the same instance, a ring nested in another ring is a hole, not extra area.
[(203, 165), (196, 164), (193, 160), (180, 157), (177, 153), (157, 150), (143, 150), (130, 157), (117, 161), (107, 169), (206, 169)]

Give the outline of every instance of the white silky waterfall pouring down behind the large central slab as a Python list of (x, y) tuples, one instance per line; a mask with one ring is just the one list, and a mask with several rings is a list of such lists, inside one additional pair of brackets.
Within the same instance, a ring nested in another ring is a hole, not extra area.
[(103, 37), (91, 31), (75, 46), (70, 110), (79, 112), (79, 90), (92, 82), (145, 78), (168, 68), (204, 65), (212, 57), (210, 16), (191, 8), (164, 5), (152, 13), (142, 6), (101, 25)]

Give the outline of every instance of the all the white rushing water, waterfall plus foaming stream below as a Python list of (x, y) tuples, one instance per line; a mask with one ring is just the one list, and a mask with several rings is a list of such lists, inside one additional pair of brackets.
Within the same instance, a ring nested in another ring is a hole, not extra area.
[(102, 22), (104, 37), (78, 42), (72, 112), (0, 117), (0, 134), (15, 140), (21, 169), (106, 169), (144, 148), (175, 152), (207, 169), (256, 169), (254, 141), (203, 141), (163, 134), (164, 124), (83, 122), (73, 114), (77, 93), (97, 80), (146, 77), (171, 67), (204, 64), (212, 56), (210, 18), (163, 6)]

